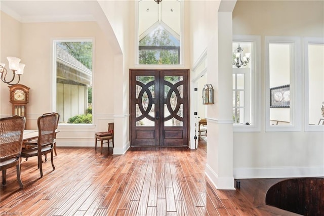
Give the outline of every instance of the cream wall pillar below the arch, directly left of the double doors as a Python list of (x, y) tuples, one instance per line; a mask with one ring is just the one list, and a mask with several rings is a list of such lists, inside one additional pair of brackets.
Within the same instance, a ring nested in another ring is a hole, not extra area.
[[(118, 41), (120, 53), (114, 61), (114, 154), (124, 154), (129, 148), (129, 68), (134, 53), (134, 4), (135, 1), (99, 1)], [(104, 27), (104, 26), (103, 26)], [(116, 48), (114, 48), (116, 51)]]

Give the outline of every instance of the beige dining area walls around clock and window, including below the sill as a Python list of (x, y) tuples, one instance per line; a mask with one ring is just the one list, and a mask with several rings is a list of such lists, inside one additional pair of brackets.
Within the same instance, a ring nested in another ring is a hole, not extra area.
[[(95, 62), (93, 82), (93, 109), (95, 125), (85, 127), (60, 126), (61, 145), (92, 145), (94, 132), (105, 130), (107, 122), (113, 121), (114, 113), (114, 55), (106, 35), (96, 22), (49, 22), (19, 23), (2, 12), (1, 28), (3, 32), (20, 35), (21, 38), (5, 35), (1, 38), (1, 62), (5, 57), (13, 55), (21, 58), (26, 64), (21, 84), (30, 87), (29, 103), (27, 104), (27, 129), (37, 128), (37, 117), (53, 111), (53, 72), (52, 42), (53, 39), (92, 38), (94, 39)], [(16, 28), (8, 30), (9, 24)], [(4, 45), (4, 46), (3, 46)], [(17, 46), (16, 45), (21, 45)], [(9, 52), (10, 50), (17, 50)], [(9, 90), (3, 82), (1, 85), (1, 116), (11, 114)], [(8, 98), (7, 98), (8, 96)], [(75, 139), (77, 137), (77, 139)], [(74, 139), (71, 139), (74, 138)], [(59, 144), (58, 144), (59, 145)]]

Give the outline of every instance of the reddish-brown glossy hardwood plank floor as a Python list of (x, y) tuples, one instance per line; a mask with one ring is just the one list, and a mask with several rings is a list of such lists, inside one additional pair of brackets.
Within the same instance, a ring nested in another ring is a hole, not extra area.
[(24, 189), (16, 169), (8, 169), (1, 214), (294, 215), (264, 206), (264, 192), (258, 192), (262, 180), (241, 180), (239, 190), (216, 190), (204, 174), (204, 140), (197, 150), (135, 147), (125, 155), (111, 153), (107, 147), (103, 154), (94, 147), (57, 147), (56, 169), (49, 158), (43, 178), (36, 157), (23, 159)]

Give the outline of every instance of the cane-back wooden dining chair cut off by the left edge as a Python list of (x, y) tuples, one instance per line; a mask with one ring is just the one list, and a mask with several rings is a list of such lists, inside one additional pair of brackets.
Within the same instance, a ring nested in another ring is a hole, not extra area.
[(4, 186), (7, 168), (16, 166), (18, 183), (20, 188), (24, 187), (20, 176), (20, 154), (25, 123), (26, 118), (18, 115), (0, 119), (0, 170)]

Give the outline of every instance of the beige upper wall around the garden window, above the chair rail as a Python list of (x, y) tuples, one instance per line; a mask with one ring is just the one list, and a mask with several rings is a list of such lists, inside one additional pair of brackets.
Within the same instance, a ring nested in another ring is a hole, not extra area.
[(95, 113), (113, 113), (113, 106), (108, 103), (109, 99), (113, 100), (113, 95), (108, 94), (113, 90), (110, 78), (113, 73), (109, 70), (113, 68), (112, 53), (109, 41), (96, 22), (24, 23), (22, 33), (21, 58), (26, 62), (24, 84), (30, 87), (28, 106), (32, 110), (29, 114), (39, 115), (52, 110), (52, 42), (53, 39), (63, 38), (94, 39)]

